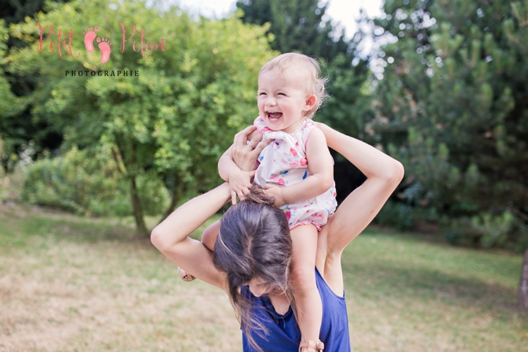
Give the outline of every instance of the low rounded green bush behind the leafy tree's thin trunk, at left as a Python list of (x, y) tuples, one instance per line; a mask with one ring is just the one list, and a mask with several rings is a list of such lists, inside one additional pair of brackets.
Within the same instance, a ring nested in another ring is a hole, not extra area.
[[(156, 175), (143, 172), (137, 186), (147, 215), (165, 210), (168, 192)], [(84, 215), (132, 214), (129, 184), (104, 151), (94, 156), (73, 148), (63, 156), (36, 161), (28, 167), (21, 196), (27, 203)]]

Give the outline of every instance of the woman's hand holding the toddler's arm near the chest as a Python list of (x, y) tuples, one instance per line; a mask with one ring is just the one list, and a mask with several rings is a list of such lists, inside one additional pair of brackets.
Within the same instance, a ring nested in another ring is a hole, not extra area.
[(234, 135), (231, 156), (234, 163), (242, 171), (255, 170), (257, 168), (258, 154), (273, 141), (273, 139), (268, 139), (265, 142), (260, 142), (262, 133), (258, 132), (256, 128), (251, 125)]

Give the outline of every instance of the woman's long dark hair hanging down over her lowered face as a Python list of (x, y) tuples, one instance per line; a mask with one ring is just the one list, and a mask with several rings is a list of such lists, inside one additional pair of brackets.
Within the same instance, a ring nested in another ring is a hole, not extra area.
[(253, 185), (251, 194), (229, 208), (220, 220), (213, 255), (215, 268), (227, 273), (234, 311), (256, 348), (251, 332), (264, 334), (265, 329), (253, 318), (251, 304), (241, 295), (241, 287), (259, 277), (282, 289), (294, 306), (289, 286), (291, 237), (288, 221), (273, 203), (272, 196)]

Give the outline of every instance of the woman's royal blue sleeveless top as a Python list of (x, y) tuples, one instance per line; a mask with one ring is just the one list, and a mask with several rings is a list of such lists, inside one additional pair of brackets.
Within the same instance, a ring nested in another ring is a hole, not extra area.
[[(315, 268), (315, 282), (322, 301), (320, 339), (325, 344), (325, 352), (350, 352), (345, 298), (334, 294), (317, 268)], [(298, 328), (291, 307), (286, 314), (279, 315), (275, 312), (268, 295), (253, 296), (247, 286), (242, 287), (241, 294), (251, 301), (253, 315), (268, 329), (265, 337), (253, 334), (258, 346), (265, 352), (297, 352), (301, 342), (301, 330)], [(242, 332), (242, 348), (244, 352), (258, 351), (251, 346), (244, 332)]]

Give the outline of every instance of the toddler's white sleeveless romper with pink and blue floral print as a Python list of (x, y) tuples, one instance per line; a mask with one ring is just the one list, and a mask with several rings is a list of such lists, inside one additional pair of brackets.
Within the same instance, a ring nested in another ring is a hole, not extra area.
[[(310, 132), (316, 128), (311, 119), (306, 118), (301, 127), (291, 134), (270, 130), (260, 116), (253, 124), (263, 133), (263, 141), (275, 139), (275, 142), (266, 146), (258, 156), (259, 165), (255, 173), (257, 184), (262, 187), (268, 183), (290, 186), (311, 175), (306, 160), (306, 142)], [(313, 199), (280, 206), (286, 213), (290, 230), (298, 225), (308, 224), (313, 224), (321, 230), (321, 226), (327, 223), (328, 216), (334, 213), (336, 207), (334, 185)]]

